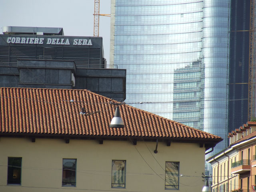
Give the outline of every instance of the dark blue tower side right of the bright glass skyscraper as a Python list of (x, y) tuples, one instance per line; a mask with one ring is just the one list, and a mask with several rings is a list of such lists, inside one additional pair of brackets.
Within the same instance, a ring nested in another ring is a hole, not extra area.
[(228, 132), (251, 120), (248, 119), (251, 1), (232, 0), (230, 5)]

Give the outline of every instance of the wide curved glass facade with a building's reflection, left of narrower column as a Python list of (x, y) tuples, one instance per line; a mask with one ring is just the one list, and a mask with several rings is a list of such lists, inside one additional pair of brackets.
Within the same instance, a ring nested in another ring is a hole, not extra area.
[[(203, 2), (115, 1), (114, 64), (127, 69), (126, 102), (200, 128)], [(190, 102), (193, 100), (193, 102)]]

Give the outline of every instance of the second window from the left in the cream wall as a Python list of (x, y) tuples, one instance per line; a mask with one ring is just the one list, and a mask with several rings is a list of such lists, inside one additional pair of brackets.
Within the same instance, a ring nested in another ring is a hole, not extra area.
[(76, 159), (63, 159), (62, 186), (76, 186)]

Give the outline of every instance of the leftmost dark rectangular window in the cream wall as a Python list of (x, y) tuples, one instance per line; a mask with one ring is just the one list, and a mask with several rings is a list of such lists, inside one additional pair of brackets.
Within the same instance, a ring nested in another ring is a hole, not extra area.
[(21, 157), (8, 157), (7, 184), (21, 184)]

